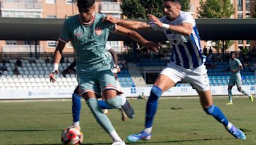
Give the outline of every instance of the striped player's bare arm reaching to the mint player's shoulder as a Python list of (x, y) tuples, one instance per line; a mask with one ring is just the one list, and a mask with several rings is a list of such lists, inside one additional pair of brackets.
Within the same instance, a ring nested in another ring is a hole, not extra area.
[(113, 24), (118, 24), (128, 29), (152, 29), (149, 24), (145, 22), (135, 21), (135, 20), (124, 20), (114, 18), (112, 15), (107, 15), (104, 20), (111, 22)]

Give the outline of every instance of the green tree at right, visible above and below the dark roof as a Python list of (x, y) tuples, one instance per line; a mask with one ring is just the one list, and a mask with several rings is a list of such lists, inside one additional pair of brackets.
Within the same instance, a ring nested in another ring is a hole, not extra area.
[[(200, 0), (200, 7), (197, 10), (199, 18), (230, 18), (235, 12), (230, 0)], [(212, 41), (212, 44), (217, 51), (221, 49), (224, 57), (225, 50), (230, 48), (234, 41), (222, 40), (222, 45), (221, 41)]]

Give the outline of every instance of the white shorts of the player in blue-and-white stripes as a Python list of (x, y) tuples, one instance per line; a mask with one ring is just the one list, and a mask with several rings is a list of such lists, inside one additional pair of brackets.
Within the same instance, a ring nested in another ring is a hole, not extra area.
[(207, 69), (204, 65), (195, 69), (185, 69), (184, 67), (171, 63), (160, 74), (168, 76), (174, 83), (181, 80), (190, 83), (198, 92), (210, 90)]

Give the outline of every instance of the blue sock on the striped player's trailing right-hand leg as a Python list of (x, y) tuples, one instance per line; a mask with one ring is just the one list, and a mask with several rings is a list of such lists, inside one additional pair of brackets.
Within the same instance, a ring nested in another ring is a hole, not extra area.
[(225, 127), (228, 125), (228, 120), (225, 117), (225, 115), (221, 112), (220, 108), (217, 106), (212, 105), (211, 107), (208, 107), (207, 109), (204, 109), (204, 111), (207, 114), (210, 114), (214, 116), (216, 120), (218, 120), (220, 123), (222, 123)]

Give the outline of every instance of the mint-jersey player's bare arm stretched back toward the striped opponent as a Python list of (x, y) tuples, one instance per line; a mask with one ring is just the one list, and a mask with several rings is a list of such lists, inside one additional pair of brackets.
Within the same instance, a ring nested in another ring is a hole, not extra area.
[(158, 45), (153, 41), (148, 41), (147, 39), (143, 38), (138, 32), (132, 31), (130, 29), (126, 29), (120, 25), (116, 25), (116, 33), (124, 36), (128, 36), (132, 40), (141, 43), (145, 48), (149, 50), (153, 50), (154, 52), (158, 52)]

